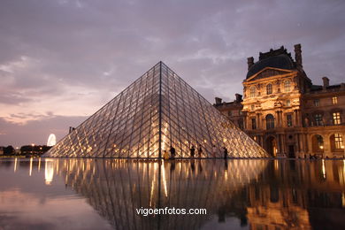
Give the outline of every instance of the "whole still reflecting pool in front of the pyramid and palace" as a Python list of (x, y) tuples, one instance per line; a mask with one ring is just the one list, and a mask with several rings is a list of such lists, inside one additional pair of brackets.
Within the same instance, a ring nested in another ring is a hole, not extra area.
[[(206, 213), (164, 212), (182, 209)], [(344, 217), (344, 160), (0, 160), (0, 229), (345, 229)]]

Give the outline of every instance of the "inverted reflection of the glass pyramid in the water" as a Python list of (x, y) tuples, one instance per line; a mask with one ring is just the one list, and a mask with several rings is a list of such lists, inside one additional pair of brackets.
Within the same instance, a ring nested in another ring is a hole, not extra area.
[[(66, 186), (85, 196), (115, 229), (198, 229), (219, 215), (219, 203), (229, 199), (241, 204), (241, 211), (233, 212), (245, 218), (245, 203), (235, 196), (258, 180), (268, 161), (61, 159), (51, 163), (65, 177)], [(136, 213), (140, 208), (165, 207), (203, 208), (207, 215)]]

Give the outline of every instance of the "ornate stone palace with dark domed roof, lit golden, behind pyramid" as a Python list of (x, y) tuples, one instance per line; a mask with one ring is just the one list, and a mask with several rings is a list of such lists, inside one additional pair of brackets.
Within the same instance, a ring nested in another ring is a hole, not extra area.
[(301, 44), (295, 59), (282, 46), (248, 58), (243, 98), (214, 106), (272, 157), (344, 157), (345, 83), (322, 80), (313, 85), (304, 72)]

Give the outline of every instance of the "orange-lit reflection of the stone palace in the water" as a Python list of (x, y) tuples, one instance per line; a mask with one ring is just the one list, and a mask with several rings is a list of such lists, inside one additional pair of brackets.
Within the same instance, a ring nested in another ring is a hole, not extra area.
[(251, 228), (343, 229), (344, 175), (342, 161), (274, 162), (247, 188)]

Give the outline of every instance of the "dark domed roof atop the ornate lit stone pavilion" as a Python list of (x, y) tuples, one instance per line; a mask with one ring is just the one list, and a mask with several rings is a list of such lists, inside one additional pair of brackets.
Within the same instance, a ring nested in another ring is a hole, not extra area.
[[(276, 51), (276, 50), (274, 50)], [(262, 56), (268, 56), (270, 53), (261, 54)], [(255, 73), (259, 73), (265, 67), (273, 67), (279, 69), (286, 69), (286, 70), (293, 70), (295, 69), (295, 63), (292, 58), (288, 54), (279, 54), (274, 55), (267, 58), (261, 58), (249, 68), (247, 73), (247, 79), (254, 75)]]

